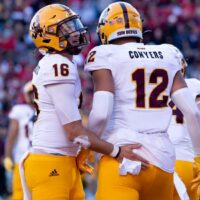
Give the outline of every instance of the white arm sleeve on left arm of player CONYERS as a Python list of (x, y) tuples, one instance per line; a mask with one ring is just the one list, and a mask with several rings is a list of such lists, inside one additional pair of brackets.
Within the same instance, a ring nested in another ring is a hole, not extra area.
[(114, 95), (107, 91), (94, 93), (92, 110), (89, 114), (88, 129), (95, 132), (99, 137), (106, 128), (107, 122), (113, 111)]

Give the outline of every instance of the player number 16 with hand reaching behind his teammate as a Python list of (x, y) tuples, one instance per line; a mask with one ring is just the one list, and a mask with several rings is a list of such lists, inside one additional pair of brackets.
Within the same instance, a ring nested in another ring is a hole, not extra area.
[(132, 149), (141, 145), (119, 148), (82, 125), (77, 105), (81, 85), (73, 55), (81, 52), (88, 38), (87, 28), (75, 12), (62, 4), (41, 8), (33, 16), (30, 35), (44, 57), (33, 72), (37, 116), (32, 151), (20, 171), (24, 195), (36, 200), (81, 200), (84, 192), (76, 164), (80, 147), (135, 159)]

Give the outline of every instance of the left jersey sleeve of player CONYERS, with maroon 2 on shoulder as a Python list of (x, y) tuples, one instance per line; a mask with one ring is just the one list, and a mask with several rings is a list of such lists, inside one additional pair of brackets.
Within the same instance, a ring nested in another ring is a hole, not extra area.
[(87, 55), (85, 71), (91, 72), (99, 69), (109, 69), (113, 71), (109, 59), (111, 54), (108, 45), (94, 47)]

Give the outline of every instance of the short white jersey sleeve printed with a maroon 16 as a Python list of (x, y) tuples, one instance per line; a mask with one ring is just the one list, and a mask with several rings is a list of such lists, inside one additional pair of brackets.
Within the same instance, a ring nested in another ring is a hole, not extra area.
[(43, 85), (69, 83), (74, 84), (77, 79), (75, 64), (59, 55), (49, 55), (39, 63), (42, 66), (41, 78)]

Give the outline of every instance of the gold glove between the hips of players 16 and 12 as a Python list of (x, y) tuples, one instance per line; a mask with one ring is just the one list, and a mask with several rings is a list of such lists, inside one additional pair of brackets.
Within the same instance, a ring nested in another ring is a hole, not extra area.
[(87, 161), (90, 159), (91, 151), (89, 149), (81, 149), (76, 157), (77, 167), (81, 173), (93, 174), (94, 168)]

